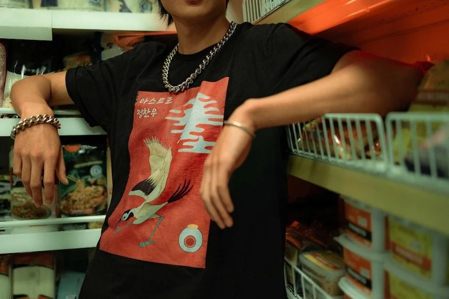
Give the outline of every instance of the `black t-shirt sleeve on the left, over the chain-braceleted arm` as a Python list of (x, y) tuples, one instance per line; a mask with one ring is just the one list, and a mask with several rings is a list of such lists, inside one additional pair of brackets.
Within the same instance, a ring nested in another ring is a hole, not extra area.
[(134, 50), (90, 66), (67, 70), (65, 85), (90, 126), (109, 127)]

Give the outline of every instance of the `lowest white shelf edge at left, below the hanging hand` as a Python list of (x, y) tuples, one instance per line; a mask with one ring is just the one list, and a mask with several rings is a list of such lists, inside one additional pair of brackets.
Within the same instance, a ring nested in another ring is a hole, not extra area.
[(97, 246), (101, 229), (0, 235), (0, 254)]

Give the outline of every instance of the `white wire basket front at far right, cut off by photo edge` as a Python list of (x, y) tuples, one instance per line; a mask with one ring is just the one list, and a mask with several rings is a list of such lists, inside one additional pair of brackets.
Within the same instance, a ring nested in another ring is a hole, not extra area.
[(449, 113), (390, 113), (388, 175), (449, 193)]

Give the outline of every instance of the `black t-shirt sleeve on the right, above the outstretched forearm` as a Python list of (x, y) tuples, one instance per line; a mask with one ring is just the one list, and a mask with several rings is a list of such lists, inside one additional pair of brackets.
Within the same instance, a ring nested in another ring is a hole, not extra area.
[(331, 73), (338, 60), (355, 50), (344, 44), (312, 36), (289, 24), (271, 25), (265, 45), (274, 92), (320, 79)]

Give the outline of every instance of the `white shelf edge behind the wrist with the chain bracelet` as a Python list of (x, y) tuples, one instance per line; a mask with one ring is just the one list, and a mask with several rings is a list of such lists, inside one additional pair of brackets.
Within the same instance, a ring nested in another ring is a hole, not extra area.
[[(8, 137), (18, 119), (0, 119), (0, 137)], [(59, 118), (61, 129), (59, 136), (105, 135), (100, 127), (90, 127), (82, 118)]]

